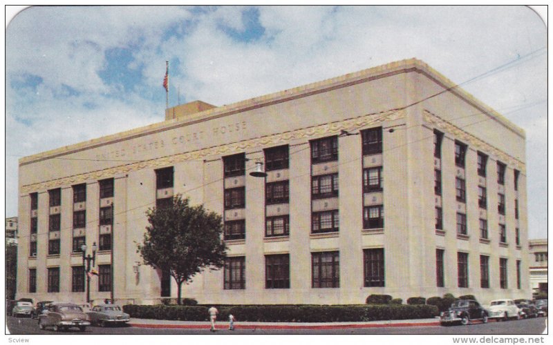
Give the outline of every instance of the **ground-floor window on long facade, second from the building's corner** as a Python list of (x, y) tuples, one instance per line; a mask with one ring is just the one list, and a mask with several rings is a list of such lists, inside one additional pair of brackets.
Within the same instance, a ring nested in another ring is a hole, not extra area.
[(311, 273), (312, 288), (339, 288), (339, 252), (311, 253)]

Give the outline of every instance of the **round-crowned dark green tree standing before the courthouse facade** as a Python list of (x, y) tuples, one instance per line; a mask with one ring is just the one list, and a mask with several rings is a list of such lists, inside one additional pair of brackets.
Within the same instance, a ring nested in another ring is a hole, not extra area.
[(191, 282), (205, 268), (217, 270), (225, 264), (227, 246), (221, 240), (221, 215), (207, 211), (203, 205), (190, 206), (189, 199), (176, 195), (172, 204), (147, 210), (150, 223), (144, 242), (138, 244), (144, 264), (169, 271), (178, 286)]

